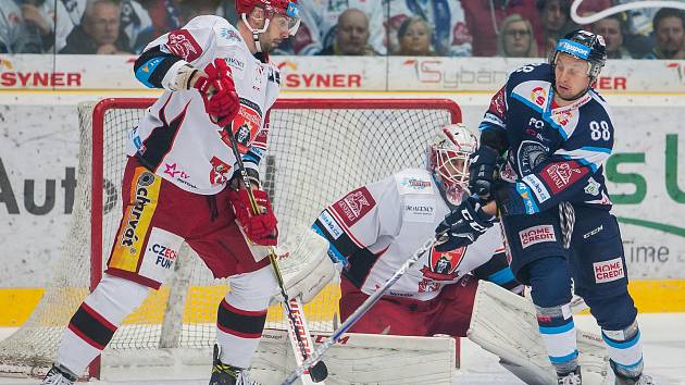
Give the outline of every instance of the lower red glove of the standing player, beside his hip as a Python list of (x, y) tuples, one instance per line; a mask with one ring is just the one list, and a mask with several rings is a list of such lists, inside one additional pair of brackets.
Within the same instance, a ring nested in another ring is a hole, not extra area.
[(228, 199), (236, 214), (236, 220), (242, 228), (245, 235), (257, 245), (276, 246), (278, 239), (278, 228), (276, 228), (276, 216), (271, 208), (266, 191), (253, 189), (254, 201), (257, 202), (258, 214), (252, 213), (250, 199), (247, 190), (231, 190)]

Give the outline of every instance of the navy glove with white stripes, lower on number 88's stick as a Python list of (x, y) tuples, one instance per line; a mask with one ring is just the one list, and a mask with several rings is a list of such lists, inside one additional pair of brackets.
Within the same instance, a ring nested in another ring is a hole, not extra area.
[(469, 197), (435, 228), (436, 251), (450, 251), (473, 244), (488, 228), (495, 216), (483, 211), (481, 201)]

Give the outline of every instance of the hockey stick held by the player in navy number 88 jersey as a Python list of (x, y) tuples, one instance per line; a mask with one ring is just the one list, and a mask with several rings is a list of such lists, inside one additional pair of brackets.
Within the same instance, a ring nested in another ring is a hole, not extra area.
[(290, 373), (290, 375), (286, 377), (286, 380), (282, 383), (282, 385), (291, 385), (295, 381), (297, 381), (299, 376), (301, 376), (308, 370), (308, 368), (310, 368), (314, 362), (316, 362), (316, 360), (319, 360), (326, 352), (326, 350), (328, 350), (328, 348), (335, 345), (335, 343), (337, 343), (338, 339), (340, 339), (342, 334), (347, 332), (350, 327), (352, 327), (352, 325), (357, 321), (359, 321), (359, 319), (361, 319), (362, 315), (364, 315), (366, 311), (369, 311), (369, 309), (371, 309), (371, 307), (374, 306), (381, 299), (383, 294), (388, 288), (390, 288), (390, 286), (395, 285), (395, 283), (402, 275), (404, 275), (404, 273), (407, 273), (409, 268), (411, 268), (414, 263), (416, 263), (416, 261), (421, 258), (421, 256), (423, 256), (426, 251), (431, 249), (435, 240), (436, 240), (436, 237), (431, 237), (429, 239), (426, 239), (426, 241), (424, 241), (423, 245), (421, 245), (421, 247), (416, 251), (414, 251), (411, 258), (409, 258), (404, 262), (404, 264), (402, 264), (395, 272), (395, 274), (393, 274), (393, 276), (390, 276), (390, 278), (385, 282), (385, 284), (383, 284), (383, 286), (377, 288), (369, 298), (366, 298), (366, 300), (364, 300), (364, 302), (362, 302), (362, 305), (360, 305), (359, 308), (357, 308), (357, 310), (354, 310), (354, 312), (347, 320), (345, 320), (345, 322), (342, 322), (342, 324), (338, 328), (336, 328), (335, 332), (333, 332), (331, 337), (328, 337), (323, 344), (321, 344), (321, 346), (316, 349), (316, 351), (314, 351), (314, 353), (310, 358), (304, 360), (304, 362), (301, 365), (297, 367), (297, 369), (292, 373)]

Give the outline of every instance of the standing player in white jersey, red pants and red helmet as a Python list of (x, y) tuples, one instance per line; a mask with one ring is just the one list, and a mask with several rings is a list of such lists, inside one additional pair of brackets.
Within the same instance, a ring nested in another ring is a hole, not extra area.
[[(257, 349), (277, 285), (266, 247), (276, 219), (259, 188), (264, 116), (278, 96), (269, 52), (299, 25), (296, 0), (237, 0), (234, 27), (199, 16), (152, 41), (136, 77), (164, 92), (127, 141), (123, 218), (104, 277), (71, 319), (43, 384), (73, 384), (112, 339), (123, 319), (174, 271), (187, 243), (232, 290), (219, 305), (210, 384), (253, 384), (244, 369)], [(261, 214), (232, 179), (238, 137)], [(233, 182), (232, 182), (233, 181)]]

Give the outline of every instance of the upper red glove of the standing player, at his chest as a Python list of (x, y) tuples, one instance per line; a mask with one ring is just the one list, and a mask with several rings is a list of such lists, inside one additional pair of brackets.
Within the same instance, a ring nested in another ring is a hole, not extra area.
[(231, 67), (224, 59), (214, 59), (204, 67), (207, 77), (200, 77), (194, 85), (204, 100), (204, 110), (212, 123), (225, 127), (238, 114), (240, 101), (233, 83)]

